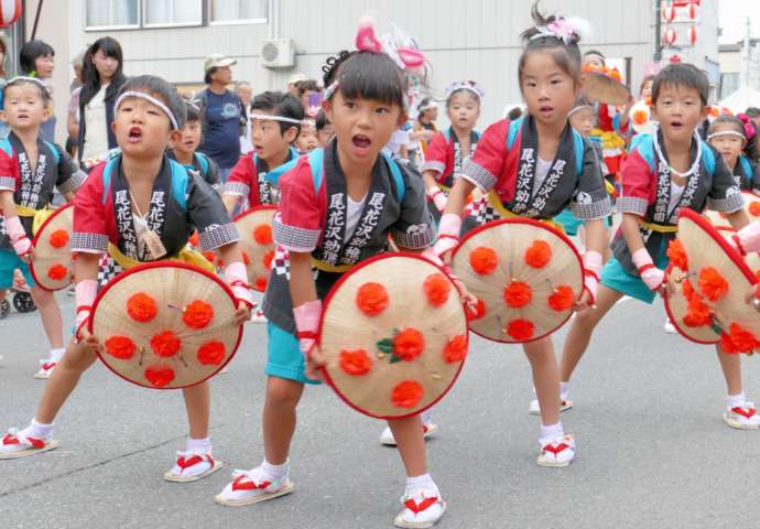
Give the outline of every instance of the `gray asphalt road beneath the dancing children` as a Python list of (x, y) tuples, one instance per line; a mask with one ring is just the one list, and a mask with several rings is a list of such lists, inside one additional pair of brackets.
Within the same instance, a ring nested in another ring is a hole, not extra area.
[[(70, 315), (72, 299), (62, 301)], [(439, 527), (756, 527), (760, 432), (724, 424), (714, 352), (664, 334), (662, 322), (661, 305), (629, 301), (599, 330), (574, 381), (575, 408), (563, 414), (578, 442), (564, 469), (535, 464), (539, 421), (526, 413), (531, 380), (521, 350), (475, 339), (463, 376), (435, 410), (441, 430), (428, 443), (449, 506)], [(404, 484), (398, 454), (379, 445), (379, 421), (326, 387), (310, 388), (300, 408), (296, 493), (243, 508), (214, 503), (231, 469), (262, 457), (264, 343), (264, 326), (248, 325), (229, 373), (213, 381), (211, 439), (222, 471), (189, 485), (163, 482), (184, 446), (180, 393), (131, 386), (98, 364), (58, 417), (61, 449), (0, 462), (0, 527), (392, 527)], [(31, 375), (45, 347), (36, 314), (0, 321), (0, 428), (33, 415), (44, 382)], [(750, 397), (760, 396), (759, 363), (743, 361)]]

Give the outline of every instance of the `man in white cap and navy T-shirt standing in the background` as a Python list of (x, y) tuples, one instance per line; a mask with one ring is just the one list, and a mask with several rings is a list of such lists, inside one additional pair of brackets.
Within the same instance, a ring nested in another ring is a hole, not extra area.
[(206, 89), (196, 96), (204, 107), (203, 139), (198, 150), (219, 165), (219, 177), (227, 175), (240, 158), (241, 126), (246, 126), (246, 108), (240, 97), (227, 86), (232, 83), (230, 66), (237, 61), (220, 53), (204, 63)]

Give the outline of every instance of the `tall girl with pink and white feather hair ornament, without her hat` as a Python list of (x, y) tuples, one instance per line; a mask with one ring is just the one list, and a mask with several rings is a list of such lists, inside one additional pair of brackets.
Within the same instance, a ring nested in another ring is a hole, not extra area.
[[(525, 46), (518, 69), (528, 115), (518, 121), (498, 121), (484, 132), (448, 195), (435, 251), (444, 260), (450, 259), (460, 231), (500, 216), (551, 219), (569, 206), (587, 222), (587, 276), (576, 304), (577, 310), (583, 310), (594, 303), (601, 251), (607, 244), (602, 219), (610, 214), (596, 153), (567, 121), (580, 86), (578, 32), (583, 22), (544, 18), (538, 4), (532, 15), (536, 26), (522, 34)], [(465, 201), (476, 186), (487, 196), (475, 205), (463, 226)], [(575, 457), (575, 441), (565, 435), (560, 422), (560, 371), (552, 341), (545, 337), (525, 343), (523, 349), (541, 402), (538, 463), (566, 466)]]

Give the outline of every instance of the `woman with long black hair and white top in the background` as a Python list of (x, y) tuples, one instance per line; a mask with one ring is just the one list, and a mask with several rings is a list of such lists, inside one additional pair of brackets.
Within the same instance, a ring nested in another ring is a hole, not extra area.
[[(123, 54), (116, 39), (104, 36), (87, 48), (82, 66), (83, 85), (72, 94), (68, 134), (77, 138), (77, 158), (97, 158), (117, 147), (111, 130), (113, 105), (127, 78), (122, 73)], [(75, 99), (76, 98), (76, 99)]]

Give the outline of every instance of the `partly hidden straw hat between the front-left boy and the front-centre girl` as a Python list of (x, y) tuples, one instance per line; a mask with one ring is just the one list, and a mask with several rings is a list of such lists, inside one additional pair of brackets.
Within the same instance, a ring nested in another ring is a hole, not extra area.
[[(251, 288), (259, 292), (265, 290), (265, 287), (261, 288), (261, 285), (265, 285), (269, 280), (271, 256), (274, 255), (274, 242), (258, 242), (253, 231), (260, 226), (269, 226), (271, 239), (272, 218), (276, 210), (275, 206), (256, 206), (235, 217), (235, 224), (238, 225), (238, 230), (240, 231), (240, 249), (245, 255), (243, 261), (247, 262), (248, 282), (251, 284)], [(269, 261), (269, 266), (267, 261)]]

